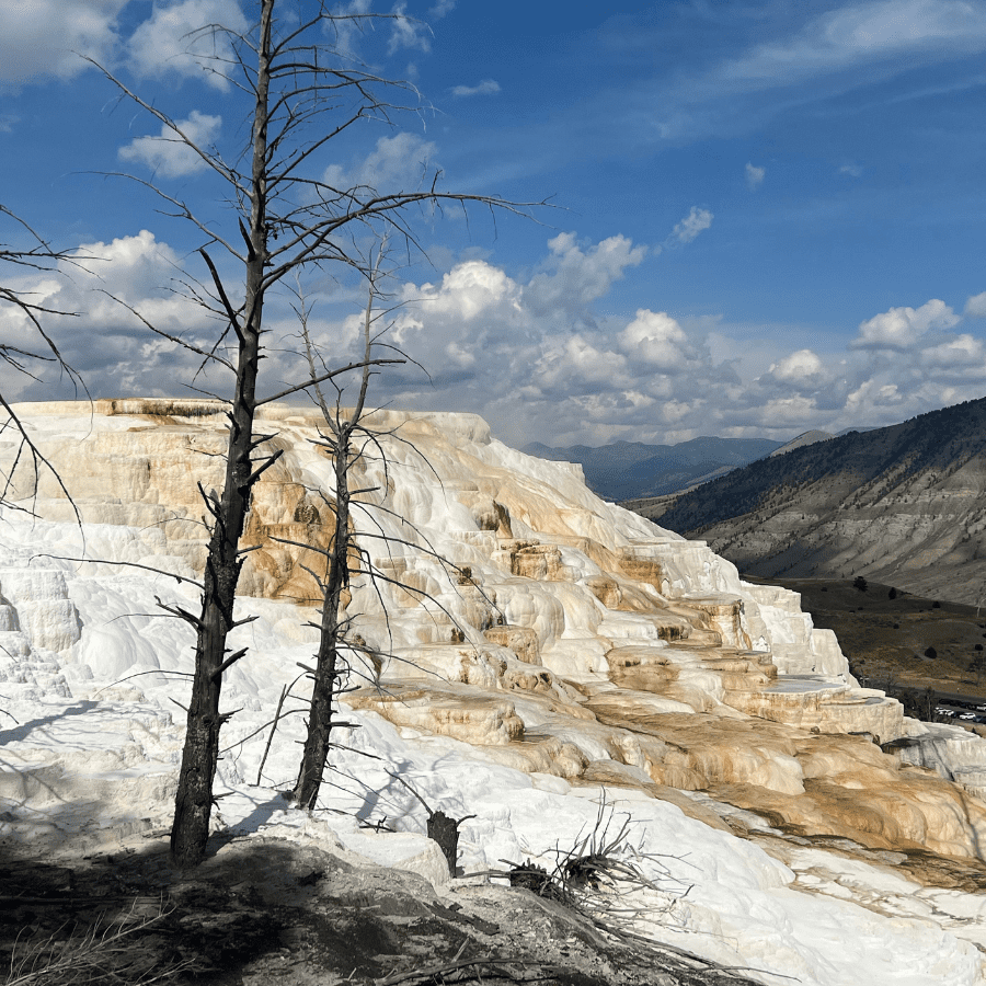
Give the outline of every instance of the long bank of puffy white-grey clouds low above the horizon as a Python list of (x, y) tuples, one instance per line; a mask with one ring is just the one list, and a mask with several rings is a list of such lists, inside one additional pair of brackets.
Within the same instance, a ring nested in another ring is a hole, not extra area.
[[(174, 250), (142, 231), (84, 244), (80, 254), (92, 259), (89, 273), (24, 275), (13, 286), (84, 312), (48, 328), (93, 394), (195, 393), (180, 383), (228, 393), (225, 371), (196, 378), (200, 357), (150, 334), (125, 307), (195, 345), (217, 337), (221, 319), (172, 290), (182, 260)], [(986, 293), (968, 299), (961, 316), (940, 299), (876, 313), (837, 352), (790, 345), (791, 336), (776, 331), (752, 364), (743, 358), (748, 326), (676, 317), (657, 306), (600, 311), (612, 286), (647, 256), (626, 237), (584, 243), (560, 233), (546, 244), (541, 264), (523, 275), (469, 259), (439, 278), (395, 285), (387, 340), (428, 376), (412, 364), (388, 368), (375, 381), (374, 400), (472, 411), (514, 444), (567, 445), (712, 434), (781, 440), (810, 428), (893, 424), (986, 388), (976, 318)], [(312, 331), (337, 363), (356, 353), (362, 300), (358, 290), (347, 298), (343, 313), (336, 307), (326, 314), (321, 299), (312, 299)], [(0, 314), (12, 344), (28, 341), (30, 326), (15, 313)], [(286, 299), (272, 300), (267, 324), (272, 392), (300, 372)], [(0, 382), (11, 399), (50, 399), (59, 386), (23, 377)]]

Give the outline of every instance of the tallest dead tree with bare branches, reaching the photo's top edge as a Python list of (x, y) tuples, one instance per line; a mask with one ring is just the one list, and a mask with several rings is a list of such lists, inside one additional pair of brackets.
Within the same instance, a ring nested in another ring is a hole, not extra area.
[[(163, 125), (171, 135), (169, 139), (183, 142), (226, 184), (233, 214), (229, 230), (222, 232), (159, 184), (137, 180), (168, 203), (171, 215), (193, 223), (207, 238), (198, 254), (208, 272), (204, 278), (208, 287), (199, 285), (195, 297), (227, 328), (206, 348), (168, 334), (139, 312), (135, 314), (151, 331), (195, 352), (204, 363), (225, 367), (234, 378), (222, 491), (202, 491), (210, 524), (202, 609), (197, 616), (184, 609), (170, 610), (196, 632), (195, 679), (171, 835), (172, 859), (181, 867), (198, 863), (208, 839), (219, 730), (226, 718), (219, 711), (222, 675), (245, 653), (229, 653), (227, 649), (227, 637), (238, 626), (233, 608), (244, 560), (240, 539), (253, 486), (279, 455), (257, 454), (273, 436), (254, 435), (255, 411), (266, 401), (362, 366), (357, 363), (326, 370), (314, 381), (305, 379), (261, 400), (257, 375), (267, 294), (286, 276), (312, 266), (365, 273), (353, 248), (357, 232), (379, 236), (381, 230), (389, 230), (415, 246), (410, 211), (417, 204), (440, 207), (455, 203), (465, 207), (478, 203), (492, 209), (524, 211), (523, 204), (495, 196), (439, 191), (437, 173), (412, 192), (370, 185), (335, 187), (316, 165), (319, 153), (360, 122), (389, 123), (402, 111), (415, 110), (417, 94), (409, 83), (381, 78), (354, 65), (353, 57), (340, 51), (332, 38), (343, 31), (372, 27), (381, 20), (401, 20), (403, 15), (332, 13), (325, 0), (253, 0), (249, 7), (256, 20), (246, 32), (209, 24), (188, 35), (192, 41), (211, 36), (222, 42), (214, 46), (216, 50), (231, 53), (217, 57), (209, 67), (227, 76), (236, 94), (245, 102), (242, 108), (250, 122), (250, 136), (243, 154), (233, 162), (198, 142), (176, 116), (100, 67), (123, 94)], [(220, 274), (225, 265), (211, 255), (217, 249), (239, 268), (236, 282)], [(230, 332), (234, 341), (232, 355), (227, 358), (220, 347)]]

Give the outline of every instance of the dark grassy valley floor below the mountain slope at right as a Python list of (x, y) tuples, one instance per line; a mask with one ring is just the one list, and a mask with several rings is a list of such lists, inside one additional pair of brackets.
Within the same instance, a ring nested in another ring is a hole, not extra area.
[[(924, 689), (986, 701), (986, 674), (970, 664), (986, 647), (986, 608), (926, 599), (851, 578), (754, 578), (801, 594), (816, 627), (834, 630), (852, 674), (871, 688)], [(933, 649), (933, 657), (925, 652)]]

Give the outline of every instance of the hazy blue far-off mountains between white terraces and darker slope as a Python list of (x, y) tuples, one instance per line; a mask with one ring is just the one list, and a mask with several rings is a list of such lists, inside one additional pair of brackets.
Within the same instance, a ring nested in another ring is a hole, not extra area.
[(769, 438), (692, 438), (679, 445), (616, 442), (599, 448), (551, 448), (535, 442), (523, 451), (539, 459), (581, 463), (593, 492), (620, 502), (686, 490), (781, 447), (780, 442)]

